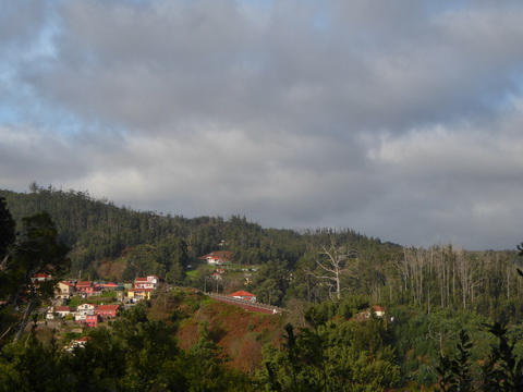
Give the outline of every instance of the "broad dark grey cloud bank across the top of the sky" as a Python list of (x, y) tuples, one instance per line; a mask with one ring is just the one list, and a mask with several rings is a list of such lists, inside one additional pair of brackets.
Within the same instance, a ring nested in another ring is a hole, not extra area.
[[(284, 4), (283, 14), (283, 5), (266, 11), (260, 29), (234, 1), (66, 2), (57, 66), (28, 81), (85, 118), (147, 132), (177, 130), (181, 119), (273, 119), (285, 132), (346, 134), (489, 112), (521, 71), (519, 9), (327, 2), (331, 23), (318, 32), (314, 9)], [(501, 53), (478, 44), (500, 40)]]

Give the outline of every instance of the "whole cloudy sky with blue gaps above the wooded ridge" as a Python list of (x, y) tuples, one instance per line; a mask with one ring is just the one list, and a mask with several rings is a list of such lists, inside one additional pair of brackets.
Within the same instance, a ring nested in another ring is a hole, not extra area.
[(523, 241), (523, 2), (0, 0), (0, 188)]

